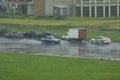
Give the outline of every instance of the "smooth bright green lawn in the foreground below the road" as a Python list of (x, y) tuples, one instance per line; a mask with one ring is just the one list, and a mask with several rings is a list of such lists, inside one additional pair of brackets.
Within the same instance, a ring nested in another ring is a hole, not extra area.
[(0, 53), (0, 80), (119, 80), (120, 62)]

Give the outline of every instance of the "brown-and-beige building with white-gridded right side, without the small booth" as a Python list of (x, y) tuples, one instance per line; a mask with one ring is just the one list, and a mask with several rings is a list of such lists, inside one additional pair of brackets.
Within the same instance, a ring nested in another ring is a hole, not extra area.
[(120, 0), (34, 0), (35, 16), (53, 16), (54, 6), (68, 6), (67, 16), (119, 17)]

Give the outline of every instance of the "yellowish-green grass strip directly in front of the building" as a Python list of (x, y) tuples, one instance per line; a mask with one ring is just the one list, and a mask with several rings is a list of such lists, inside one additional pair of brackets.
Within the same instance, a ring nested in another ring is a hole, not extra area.
[(31, 26), (72, 26), (72, 27), (113, 27), (113, 29), (120, 29), (120, 18), (79, 18), (79, 17), (69, 17), (64, 19), (54, 19), (54, 18), (0, 18), (0, 24), (8, 25), (31, 25)]

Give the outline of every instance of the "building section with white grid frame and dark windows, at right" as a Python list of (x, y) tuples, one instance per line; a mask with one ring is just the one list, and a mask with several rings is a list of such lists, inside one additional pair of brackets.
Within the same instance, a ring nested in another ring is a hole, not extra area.
[(75, 15), (80, 17), (119, 17), (120, 0), (76, 0)]

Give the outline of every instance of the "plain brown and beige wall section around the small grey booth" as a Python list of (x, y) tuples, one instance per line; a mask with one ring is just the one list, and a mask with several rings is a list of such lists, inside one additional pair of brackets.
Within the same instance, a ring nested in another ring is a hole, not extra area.
[[(70, 6), (72, 3), (73, 0), (34, 0), (34, 15), (53, 16), (55, 7), (65, 8), (65, 6)], [(67, 8), (67, 15), (69, 15), (68, 9), (69, 7)], [(61, 9), (61, 12), (62, 10), (63, 9)]]

